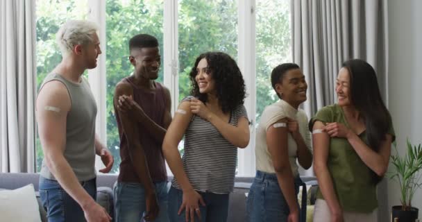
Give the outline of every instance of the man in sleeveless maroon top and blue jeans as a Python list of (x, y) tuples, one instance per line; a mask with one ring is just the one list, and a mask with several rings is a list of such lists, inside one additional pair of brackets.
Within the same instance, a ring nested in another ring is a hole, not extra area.
[(120, 173), (115, 187), (117, 222), (168, 221), (167, 172), (162, 141), (171, 122), (169, 89), (155, 82), (160, 49), (155, 37), (129, 41), (133, 74), (116, 85), (114, 106), (120, 135)]

